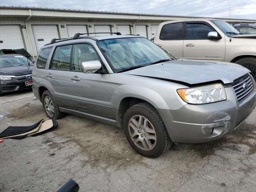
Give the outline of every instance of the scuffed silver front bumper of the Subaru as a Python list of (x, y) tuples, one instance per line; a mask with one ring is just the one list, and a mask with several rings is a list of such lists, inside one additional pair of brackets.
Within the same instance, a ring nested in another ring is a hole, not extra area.
[(256, 90), (239, 103), (233, 88), (225, 88), (225, 91), (225, 101), (186, 104), (179, 110), (158, 109), (171, 140), (184, 143), (207, 142), (231, 133), (242, 124), (256, 106)]

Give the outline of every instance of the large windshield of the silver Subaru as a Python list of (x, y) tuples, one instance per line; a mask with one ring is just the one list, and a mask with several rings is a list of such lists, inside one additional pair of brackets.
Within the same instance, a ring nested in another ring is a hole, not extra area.
[(174, 60), (170, 54), (146, 38), (100, 40), (98, 46), (114, 72)]

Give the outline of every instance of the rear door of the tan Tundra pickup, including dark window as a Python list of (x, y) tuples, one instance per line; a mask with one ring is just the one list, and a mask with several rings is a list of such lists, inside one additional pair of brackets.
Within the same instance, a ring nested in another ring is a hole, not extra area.
[(154, 43), (169, 50), (170, 54), (177, 59), (183, 56), (184, 22), (165, 24)]

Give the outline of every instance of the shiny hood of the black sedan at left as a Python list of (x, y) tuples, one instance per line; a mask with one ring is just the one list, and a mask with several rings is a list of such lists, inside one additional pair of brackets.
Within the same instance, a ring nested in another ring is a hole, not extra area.
[(22, 76), (32, 74), (33, 65), (12, 66), (0, 68), (0, 75)]

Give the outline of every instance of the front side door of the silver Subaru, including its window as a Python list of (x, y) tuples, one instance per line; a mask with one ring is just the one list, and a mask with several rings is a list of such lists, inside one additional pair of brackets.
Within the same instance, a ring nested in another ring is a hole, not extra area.
[(110, 75), (83, 73), (81, 63), (100, 60), (90, 44), (74, 44), (69, 87), (75, 110), (114, 119)]

